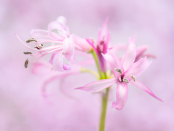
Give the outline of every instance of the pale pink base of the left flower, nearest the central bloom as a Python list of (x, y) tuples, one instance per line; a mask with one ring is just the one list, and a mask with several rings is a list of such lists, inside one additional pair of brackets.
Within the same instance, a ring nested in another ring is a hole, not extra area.
[(73, 37), (74, 37), (74, 44), (79, 46), (81, 51), (89, 52), (92, 50), (91, 46), (86, 41), (86, 39), (81, 38), (77, 35), (73, 35)]

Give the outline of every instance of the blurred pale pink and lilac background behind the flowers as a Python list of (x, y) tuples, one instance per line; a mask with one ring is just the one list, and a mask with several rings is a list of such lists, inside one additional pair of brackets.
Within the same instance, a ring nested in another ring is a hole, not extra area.
[[(31, 29), (47, 29), (49, 22), (63, 15), (70, 32), (97, 39), (99, 28), (109, 17), (111, 44), (147, 45), (157, 56), (139, 78), (160, 102), (136, 87), (129, 86), (123, 110), (108, 103), (106, 131), (174, 130), (174, 1), (173, 0), (1, 0), (0, 1), (0, 130), (1, 131), (96, 131), (101, 96), (75, 87), (92, 82), (89, 74), (68, 77), (59, 89), (59, 79), (49, 85), (49, 102), (41, 95), (44, 76), (24, 68), (25, 41)], [(47, 58), (45, 58), (47, 60)], [(112, 97), (112, 96), (111, 96)], [(112, 98), (111, 98), (112, 99)], [(51, 103), (50, 103), (51, 102)]]

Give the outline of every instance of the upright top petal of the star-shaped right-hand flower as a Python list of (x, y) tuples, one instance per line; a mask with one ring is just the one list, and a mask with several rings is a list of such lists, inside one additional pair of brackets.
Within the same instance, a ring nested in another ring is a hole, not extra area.
[(136, 46), (132, 38), (129, 39), (129, 46), (127, 47), (125, 56), (123, 58), (122, 64), (124, 71), (126, 71), (135, 61), (136, 57)]

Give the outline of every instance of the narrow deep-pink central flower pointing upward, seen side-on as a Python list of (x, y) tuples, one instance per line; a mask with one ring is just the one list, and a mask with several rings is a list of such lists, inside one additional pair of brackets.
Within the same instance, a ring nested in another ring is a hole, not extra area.
[(92, 48), (96, 52), (99, 59), (99, 63), (100, 63), (100, 69), (103, 72), (106, 72), (107, 66), (102, 56), (102, 53), (103, 54), (107, 53), (108, 44), (109, 44), (109, 36), (110, 36), (110, 33), (108, 32), (108, 18), (107, 18), (105, 22), (103, 23), (101, 30), (99, 30), (97, 46), (96, 47), (94, 46), (94, 42), (92, 40), (86, 39), (87, 42), (92, 46)]

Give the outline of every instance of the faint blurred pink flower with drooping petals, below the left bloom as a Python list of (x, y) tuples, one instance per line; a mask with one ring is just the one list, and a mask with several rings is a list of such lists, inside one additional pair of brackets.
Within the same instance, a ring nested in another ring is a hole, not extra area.
[(32, 73), (43, 77), (43, 80), (41, 81), (41, 89), (42, 89), (43, 97), (49, 96), (46, 93), (47, 87), (49, 84), (51, 84), (55, 80), (60, 81), (59, 83), (60, 91), (66, 96), (72, 97), (62, 88), (65, 79), (68, 76), (72, 76), (72, 75), (74, 76), (76, 74), (82, 73), (84, 70), (84, 66), (89, 66), (91, 64), (94, 64), (93, 59), (87, 58), (85, 60), (79, 61), (76, 64), (73, 64), (72, 69), (70, 71), (60, 72), (60, 71), (51, 71), (51, 65), (47, 62), (42, 61), (42, 62), (37, 62), (33, 64)]

